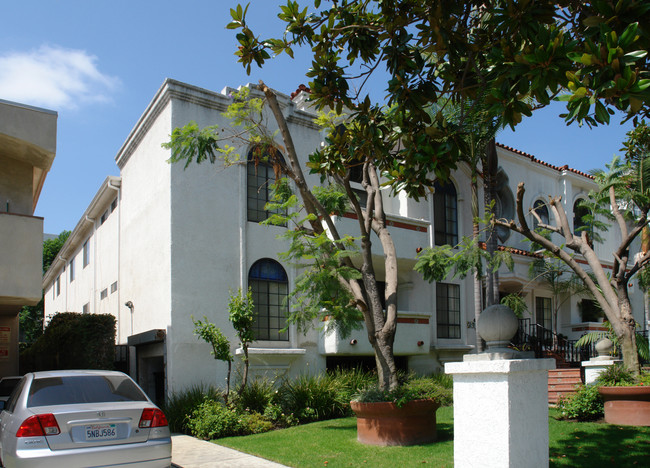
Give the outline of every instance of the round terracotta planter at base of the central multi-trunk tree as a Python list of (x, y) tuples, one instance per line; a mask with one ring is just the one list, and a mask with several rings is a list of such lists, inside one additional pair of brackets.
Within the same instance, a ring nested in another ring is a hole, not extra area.
[(350, 402), (357, 415), (357, 440), (369, 445), (416, 445), (436, 440), (435, 400), (395, 403)]

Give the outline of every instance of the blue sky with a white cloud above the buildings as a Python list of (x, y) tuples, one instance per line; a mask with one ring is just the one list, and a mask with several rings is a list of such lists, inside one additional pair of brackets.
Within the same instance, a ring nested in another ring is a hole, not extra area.
[[(276, 0), (250, 2), (249, 23), (280, 36)], [(72, 230), (107, 175), (147, 104), (169, 77), (220, 91), (263, 79), (291, 93), (307, 83), (306, 53), (275, 59), (251, 75), (237, 63), (226, 30), (230, 0), (21, 0), (4, 2), (0, 28), (0, 99), (58, 112), (57, 155), (36, 216), (44, 230)], [(307, 5), (307, 3), (305, 3)], [(381, 98), (382, 87), (373, 88)], [(537, 111), (497, 141), (551, 164), (602, 168), (630, 125), (566, 127), (561, 106)]]

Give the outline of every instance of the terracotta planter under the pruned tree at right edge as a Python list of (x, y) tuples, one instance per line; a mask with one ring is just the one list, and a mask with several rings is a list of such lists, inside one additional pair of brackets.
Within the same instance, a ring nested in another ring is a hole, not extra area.
[(605, 422), (650, 426), (650, 387), (600, 387), (605, 401)]

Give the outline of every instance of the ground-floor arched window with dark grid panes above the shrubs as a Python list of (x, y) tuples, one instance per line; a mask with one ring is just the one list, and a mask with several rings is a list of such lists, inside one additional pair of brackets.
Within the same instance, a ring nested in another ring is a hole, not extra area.
[(258, 260), (248, 272), (248, 286), (253, 293), (255, 324), (253, 330), (257, 340), (287, 341), (289, 294), (287, 273), (275, 260)]

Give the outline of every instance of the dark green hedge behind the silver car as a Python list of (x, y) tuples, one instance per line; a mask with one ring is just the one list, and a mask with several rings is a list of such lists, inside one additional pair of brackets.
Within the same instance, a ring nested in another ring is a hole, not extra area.
[(112, 369), (115, 317), (64, 312), (20, 354), (21, 372), (52, 369)]

